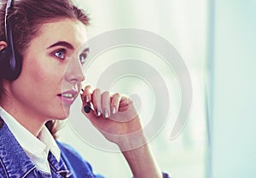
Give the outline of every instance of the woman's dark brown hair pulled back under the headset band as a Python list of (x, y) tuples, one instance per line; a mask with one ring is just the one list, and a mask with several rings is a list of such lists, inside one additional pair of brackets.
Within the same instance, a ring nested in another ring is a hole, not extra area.
[[(0, 40), (6, 41), (4, 17), (7, 0), (0, 0)], [(33, 37), (38, 35), (44, 23), (61, 19), (74, 19), (89, 25), (89, 17), (84, 10), (77, 8), (71, 0), (13, 0), (8, 19), (15, 48), (22, 56)], [(3, 78), (0, 78), (0, 104), (3, 101)], [(56, 122), (58, 123), (58, 122)], [(56, 133), (55, 122), (45, 124), (49, 131)]]

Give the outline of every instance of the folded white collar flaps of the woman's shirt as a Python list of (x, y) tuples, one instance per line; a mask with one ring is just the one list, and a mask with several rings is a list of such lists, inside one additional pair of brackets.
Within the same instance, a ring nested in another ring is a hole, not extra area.
[(30, 152), (30, 154), (37, 156), (41, 155), (42, 152), (50, 151), (55, 156), (57, 161), (60, 161), (60, 148), (57, 146), (53, 136), (49, 133), (49, 130), (45, 126), (43, 126), (41, 129), (37, 138), (1, 106), (0, 115), (3, 118), (3, 121), (8, 125), (10, 131), (13, 133), (13, 135), (15, 135), (15, 138), (20, 143), (20, 146), (26, 152)]

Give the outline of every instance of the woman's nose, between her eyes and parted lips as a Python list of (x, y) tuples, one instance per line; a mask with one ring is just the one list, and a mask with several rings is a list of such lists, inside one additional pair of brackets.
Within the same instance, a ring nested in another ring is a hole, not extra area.
[(71, 83), (81, 83), (85, 80), (84, 70), (78, 59), (68, 61), (65, 78)]

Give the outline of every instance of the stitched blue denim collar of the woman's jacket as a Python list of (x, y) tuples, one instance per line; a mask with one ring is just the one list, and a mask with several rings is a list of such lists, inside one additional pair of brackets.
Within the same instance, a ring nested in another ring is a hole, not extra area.
[[(51, 152), (49, 153), (49, 164), (52, 174), (70, 176), (62, 158), (60, 162), (57, 162)], [(2, 174), (6, 177), (13, 177), (14, 175), (25, 177), (33, 169), (36, 169), (36, 165), (28, 158), (0, 116), (0, 167), (1, 165), (3, 166)]]

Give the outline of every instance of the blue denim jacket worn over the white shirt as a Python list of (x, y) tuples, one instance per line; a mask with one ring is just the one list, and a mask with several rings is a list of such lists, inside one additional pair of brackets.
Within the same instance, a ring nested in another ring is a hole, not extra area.
[(61, 149), (61, 161), (58, 163), (49, 152), (50, 175), (36, 168), (0, 117), (0, 178), (103, 178), (93, 173), (90, 164), (73, 147), (58, 141), (57, 145)]

